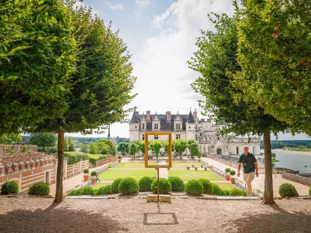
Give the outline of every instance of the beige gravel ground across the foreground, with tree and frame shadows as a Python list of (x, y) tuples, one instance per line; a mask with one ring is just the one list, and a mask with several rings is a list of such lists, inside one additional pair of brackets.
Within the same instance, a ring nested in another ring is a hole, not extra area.
[(0, 232), (91, 233), (310, 233), (311, 200), (198, 200), (146, 202), (142, 196), (109, 200), (0, 197)]

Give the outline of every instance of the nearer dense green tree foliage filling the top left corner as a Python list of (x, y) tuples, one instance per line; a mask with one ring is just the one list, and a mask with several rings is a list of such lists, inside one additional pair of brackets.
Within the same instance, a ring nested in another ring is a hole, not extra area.
[(68, 108), (76, 42), (63, 1), (6, 0), (0, 20), (0, 134)]

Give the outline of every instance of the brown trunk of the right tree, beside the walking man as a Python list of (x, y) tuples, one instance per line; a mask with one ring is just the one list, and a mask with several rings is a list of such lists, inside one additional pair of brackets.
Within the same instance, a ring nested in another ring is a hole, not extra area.
[(273, 180), (272, 180), (272, 160), (271, 160), (271, 140), (270, 133), (263, 134), (263, 146), (264, 146), (264, 194), (263, 204), (275, 204), (273, 195)]

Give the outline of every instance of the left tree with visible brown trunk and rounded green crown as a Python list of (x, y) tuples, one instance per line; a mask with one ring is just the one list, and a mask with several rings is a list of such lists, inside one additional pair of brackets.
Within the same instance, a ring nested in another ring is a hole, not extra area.
[(103, 133), (107, 125), (125, 122), (132, 109), (125, 109), (136, 94), (131, 93), (136, 77), (126, 45), (111, 24), (92, 14), (86, 6), (75, 7), (67, 1), (69, 15), (75, 23), (77, 68), (71, 75), (68, 109), (56, 119), (45, 119), (30, 131), (58, 133), (58, 166), (54, 202), (63, 200), (64, 133)]

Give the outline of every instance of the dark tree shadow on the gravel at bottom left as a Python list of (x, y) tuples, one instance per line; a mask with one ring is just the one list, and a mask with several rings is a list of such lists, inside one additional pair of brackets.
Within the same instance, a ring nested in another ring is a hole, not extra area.
[(35, 211), (16, 209), (0, 215), (0, 232), (128, 232), (128, 229), (122, 228), (119, 221), (105, 216), (104, 213), (57, 206), (58, 204), (52, 204), (45, 210)]

